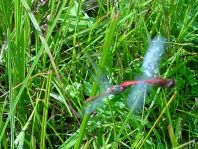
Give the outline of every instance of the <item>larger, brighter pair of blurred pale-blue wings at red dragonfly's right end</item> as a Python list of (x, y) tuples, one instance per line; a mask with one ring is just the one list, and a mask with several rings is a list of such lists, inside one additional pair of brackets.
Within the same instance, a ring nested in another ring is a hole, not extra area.
[[(143, 74), (138, 77), (140, 80), (145, 80), (157, 75), (158, 62), (164, 51), (164, 43), (165, 39), (159, 36), (151, 41), (142, 64)], [(144, 97), (149, 89), (150, 86), (147, 84), (138, 84), (132, 88), (128, 97), (128, 104), (133, 112), (140, 112), (142, 110)]]

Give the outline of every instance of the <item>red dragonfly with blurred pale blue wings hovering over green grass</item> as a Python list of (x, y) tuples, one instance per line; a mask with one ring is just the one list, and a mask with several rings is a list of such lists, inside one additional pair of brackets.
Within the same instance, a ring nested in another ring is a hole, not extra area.
[(104, 98), (109, 95), (116, 95), (124, 92), (127, 88), (134, 86), (129, 93), (128, 106), (134, 112), (139, 112), (144, 103), (145, 91), (149, 92), (151, 86), (174, 87), (174, 79), (165, 79), (157, 77), (158, 63), (163, 54), (165, 39), (156, 36), (151, 42), (146, 52), (142, 64), (142, 74), (137, 80), (124, 81), (118, 85), (110, 86), (106, 91), (96, 96), (91, 96), (85, 100), (89, 103), (86, 107), (86, 113), (92, 113), (98, 106), (104, 103)]

